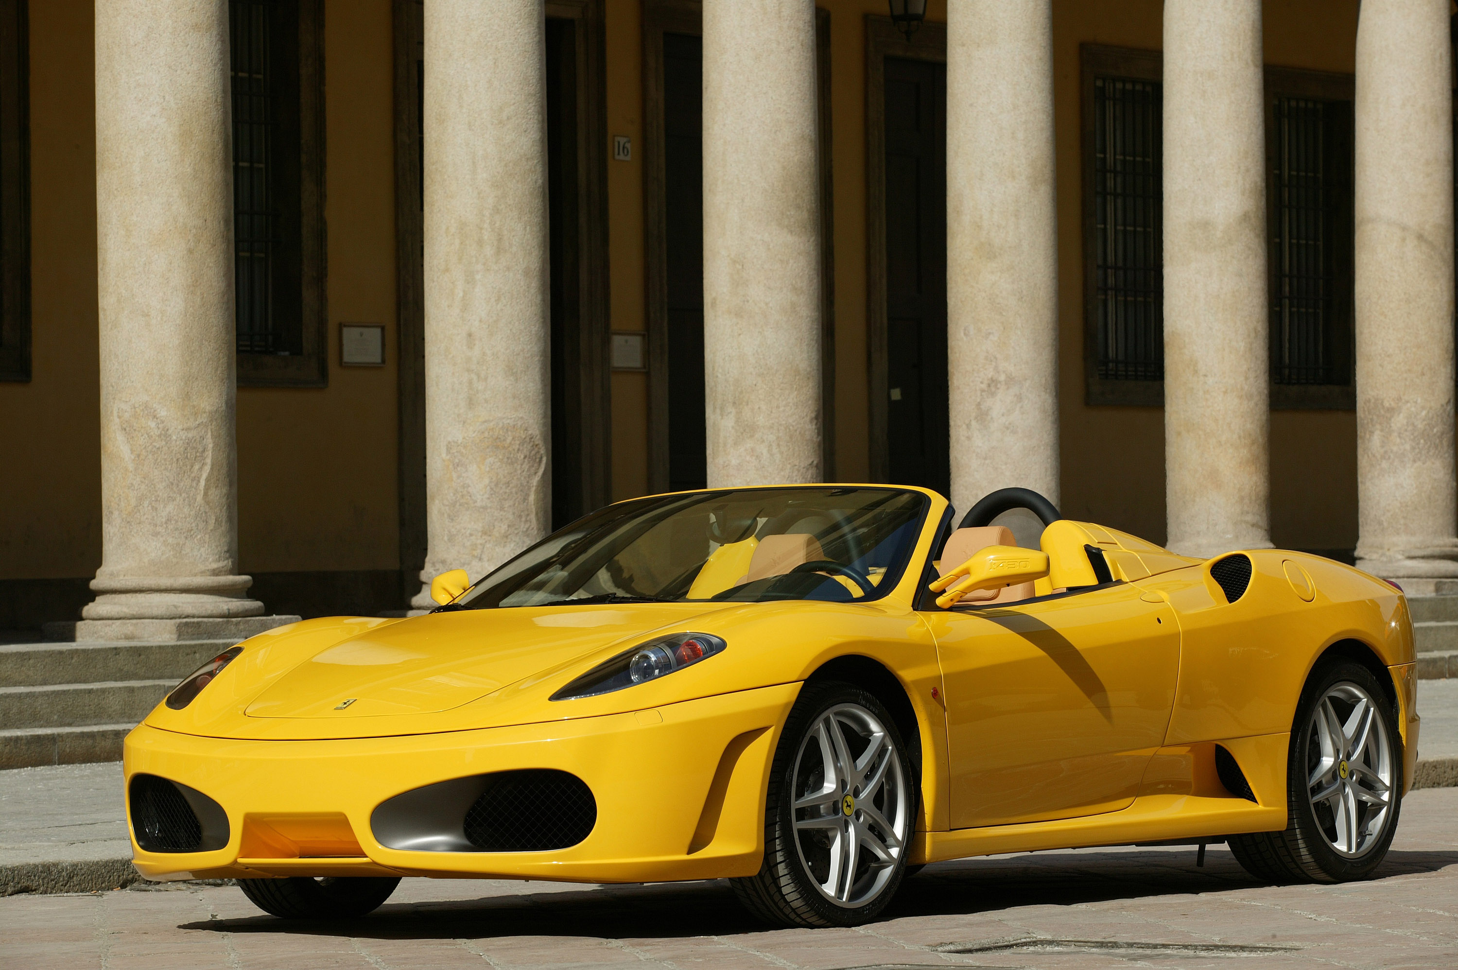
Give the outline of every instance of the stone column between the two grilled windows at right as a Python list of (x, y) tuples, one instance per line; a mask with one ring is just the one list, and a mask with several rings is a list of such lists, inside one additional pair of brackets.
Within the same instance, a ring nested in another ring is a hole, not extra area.
[(1260, 0), (1165, 1), (1169, 548), (1270, 546)]

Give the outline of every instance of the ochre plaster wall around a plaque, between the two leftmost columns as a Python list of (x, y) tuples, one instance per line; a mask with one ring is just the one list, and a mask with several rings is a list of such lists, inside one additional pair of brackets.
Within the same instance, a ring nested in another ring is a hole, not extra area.
[[(330, 387), (238, 392), (243, 572), (398, 569), (394, 55), (389, 0), (325, 4)], [(340, 322), (385, 324), (383, 368)]]

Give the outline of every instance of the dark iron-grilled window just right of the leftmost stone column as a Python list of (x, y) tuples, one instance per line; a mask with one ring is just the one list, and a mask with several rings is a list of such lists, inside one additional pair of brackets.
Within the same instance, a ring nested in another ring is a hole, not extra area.
[(324, 360), (319, 0), (229, 0), (239, 384), (318, 385)]

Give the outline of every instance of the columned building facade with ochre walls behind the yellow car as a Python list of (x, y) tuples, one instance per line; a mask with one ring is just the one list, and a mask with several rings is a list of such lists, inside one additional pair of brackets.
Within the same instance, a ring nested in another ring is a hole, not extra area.
[(0, 0), (0, 629), (811, 480), (1438, 589), (1451, 15)]

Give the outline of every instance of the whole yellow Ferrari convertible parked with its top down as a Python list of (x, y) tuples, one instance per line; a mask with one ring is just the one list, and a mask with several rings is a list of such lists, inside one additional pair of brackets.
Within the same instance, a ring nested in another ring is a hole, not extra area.
[[(1038, 548), (994, 524), (1016, 508)], [(182, 681), (127, 738), (137, 868), (313, 919), (405, 875), (729, 878), (802, 926), (1034, 849), (1223, 842), (1334, 882), (1382, 861), (1417, 751), (1394, 585), (1175, 556), (1024, 489), (961, 521), (891, 486), (636, 499), (433, 592)]]

